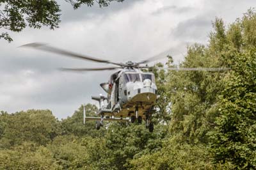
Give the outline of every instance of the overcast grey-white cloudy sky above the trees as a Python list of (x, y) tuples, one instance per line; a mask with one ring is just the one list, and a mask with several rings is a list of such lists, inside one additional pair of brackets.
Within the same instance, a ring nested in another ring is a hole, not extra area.
[[(18, 48), (20, 45), (44, 42), (114, 62), (142, 61), (164, 52), (180, 63), (188, 45), (207, 44), (216, 17), (228, 26), (256, 6), (255, 0), (125, 0), (106, 8), (95, 4), (74, 10), (64, 0), (58, 3), (60, 28), (26, 28), (10, 33), (12, 43), (0, 40), (0, 111), (50, 109), (56, 118), (67, 118), (81, 104), (98, 105), (91, 96), (104, 95), (99, 84), (108, 82), (113, 73), (60, 72), (61, 67), (111, 65)], [(0, 29), (0, 33), (5, 31)]]

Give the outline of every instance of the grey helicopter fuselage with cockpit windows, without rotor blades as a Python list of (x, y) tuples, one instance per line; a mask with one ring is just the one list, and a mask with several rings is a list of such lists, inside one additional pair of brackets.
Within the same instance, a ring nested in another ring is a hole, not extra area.
[(108, 97), (92, 98), (100, 102), (98, 114), (101, 116), (141, 116), (145, 119), (147, 114), (151, 114), (157, 98), (154, 74), (136, 68), (125, 68), (113, 73), (109, 82), (100, 86), (108, 93)]

